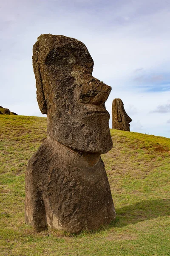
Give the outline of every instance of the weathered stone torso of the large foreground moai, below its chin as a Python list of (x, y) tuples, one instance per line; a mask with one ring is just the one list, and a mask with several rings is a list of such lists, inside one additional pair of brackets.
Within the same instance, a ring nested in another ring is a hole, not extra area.
[(96, 230), (115, 217), (100, 153), (73, 150), (50, 137), (29, 160), (26, 223), (78, 233)]

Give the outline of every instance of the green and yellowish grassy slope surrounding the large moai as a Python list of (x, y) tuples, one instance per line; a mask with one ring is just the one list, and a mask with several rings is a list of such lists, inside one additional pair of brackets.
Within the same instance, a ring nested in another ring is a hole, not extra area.
[(46, 118), (0, 116), (0, 255), (170, 256), (170, 139), (111, 129), (102, 155), (116, 221), (77, 236), (24, 223), (24, 174)]

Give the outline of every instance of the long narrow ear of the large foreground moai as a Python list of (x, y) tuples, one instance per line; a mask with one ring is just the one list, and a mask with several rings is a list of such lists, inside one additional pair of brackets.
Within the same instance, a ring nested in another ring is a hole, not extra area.
[(41, 73), (40, 73), (40, 63), (39, 63), (38, 55), (39, 55), (39, 43), (37, 41), (34, 44), (33, 56), (32, 56), (32, 62), (33, 62), (35, 80), (36, 80), (36, 87), (37, 87), (37, 102), (38, 102), (41, 113), (47, 114), (47, 105), (46, 105), (44, 91), (43, 91), (42, 77), (41, 77)]

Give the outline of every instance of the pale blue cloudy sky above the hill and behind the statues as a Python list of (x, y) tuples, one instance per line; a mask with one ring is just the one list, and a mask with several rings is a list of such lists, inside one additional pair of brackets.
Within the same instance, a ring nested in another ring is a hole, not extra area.
[(170, 138), (169, 0), (0, 0), (0, 105), (19, 115), (42, 116), (31, 58), (41, 34), (82, 41), (112, 87), (110, 115), (120, 98), (130, 131)]

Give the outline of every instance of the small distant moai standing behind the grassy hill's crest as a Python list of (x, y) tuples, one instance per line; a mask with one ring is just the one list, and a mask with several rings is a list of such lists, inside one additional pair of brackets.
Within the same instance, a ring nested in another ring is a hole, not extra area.
[(122, 99), (113, 99), (112, 103), (112, 128), (122, 131), (130, 131), (132, 119), (127, 115)]

